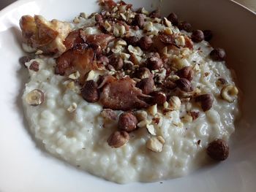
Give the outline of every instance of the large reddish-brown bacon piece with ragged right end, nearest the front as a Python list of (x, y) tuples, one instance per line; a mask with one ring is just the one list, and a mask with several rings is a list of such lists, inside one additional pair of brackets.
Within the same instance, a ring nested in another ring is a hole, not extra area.
[(135, 84), (136, 82), (130, 77), (124, 77), (120, 80), (115, 77), (108, 77), (100, 99), (103, 107), (124, 111), (148, 107), (149, 105), (141, 100), (148, 96), (144, 95), (139, 88), (136, 88)]

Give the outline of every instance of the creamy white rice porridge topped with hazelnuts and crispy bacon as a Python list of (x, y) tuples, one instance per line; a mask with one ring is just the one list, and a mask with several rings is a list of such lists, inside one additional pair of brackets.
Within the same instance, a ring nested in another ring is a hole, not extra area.
[(20, 19), (33, 55), (23, 58), (23, 107), (35, 137), (116, 183), (181, 177), (225, 160), (238, 90), (225, 51), (207, 42), (211, 31), (123, 1), (101, 5), (72, 23)]

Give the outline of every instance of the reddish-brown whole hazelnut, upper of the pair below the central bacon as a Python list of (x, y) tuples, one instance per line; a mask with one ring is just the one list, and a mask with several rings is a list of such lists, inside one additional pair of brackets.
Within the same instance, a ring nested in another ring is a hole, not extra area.
[(122, 131), (131, 132), (137, 127), (138, 120), (132, 112), (123, 112), (118, 119), (118, 128)]

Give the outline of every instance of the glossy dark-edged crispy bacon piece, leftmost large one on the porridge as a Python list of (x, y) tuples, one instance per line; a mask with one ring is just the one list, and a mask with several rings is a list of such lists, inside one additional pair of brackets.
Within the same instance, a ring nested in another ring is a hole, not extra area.
[(63, 53), (56, 59), (56, 74), (68, 76), (73, 72), (80, 72), (80, 77), (94, 69), (94, 50), (87, 45), (79, 45)]

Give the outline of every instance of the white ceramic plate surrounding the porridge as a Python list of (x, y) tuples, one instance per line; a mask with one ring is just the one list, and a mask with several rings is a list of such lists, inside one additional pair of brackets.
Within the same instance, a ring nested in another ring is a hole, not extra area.
[[(0, 12), (0, 191), (255, 191), (256, 188), (256, 15), (227, 0), (130, 0), (135, 7), (176, 12), (195, 28), (214, 31), (213, 45), (227, 50), (227, 63), (237, 72), (242, 118), (237, 122), (230, 158), (187, 177), (162, 183), (118, 185), (81, 172), (51, 157), (29, 134), (20, 95), (28, 78), (18, 58), (18, 20), (22, 15), (72, 20), (99, 9), (95, 0), (21, 0)], [(153, 2), (153, 4), (152, 4)]]

